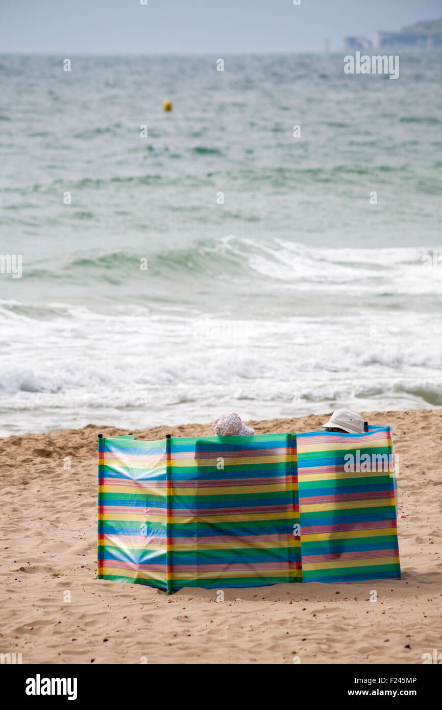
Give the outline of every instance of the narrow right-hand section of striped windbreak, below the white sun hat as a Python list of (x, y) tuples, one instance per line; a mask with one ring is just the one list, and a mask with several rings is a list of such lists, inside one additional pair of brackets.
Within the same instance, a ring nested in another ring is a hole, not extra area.
[(303, 581), (400, 579), (391, 427), (297, 442)]

